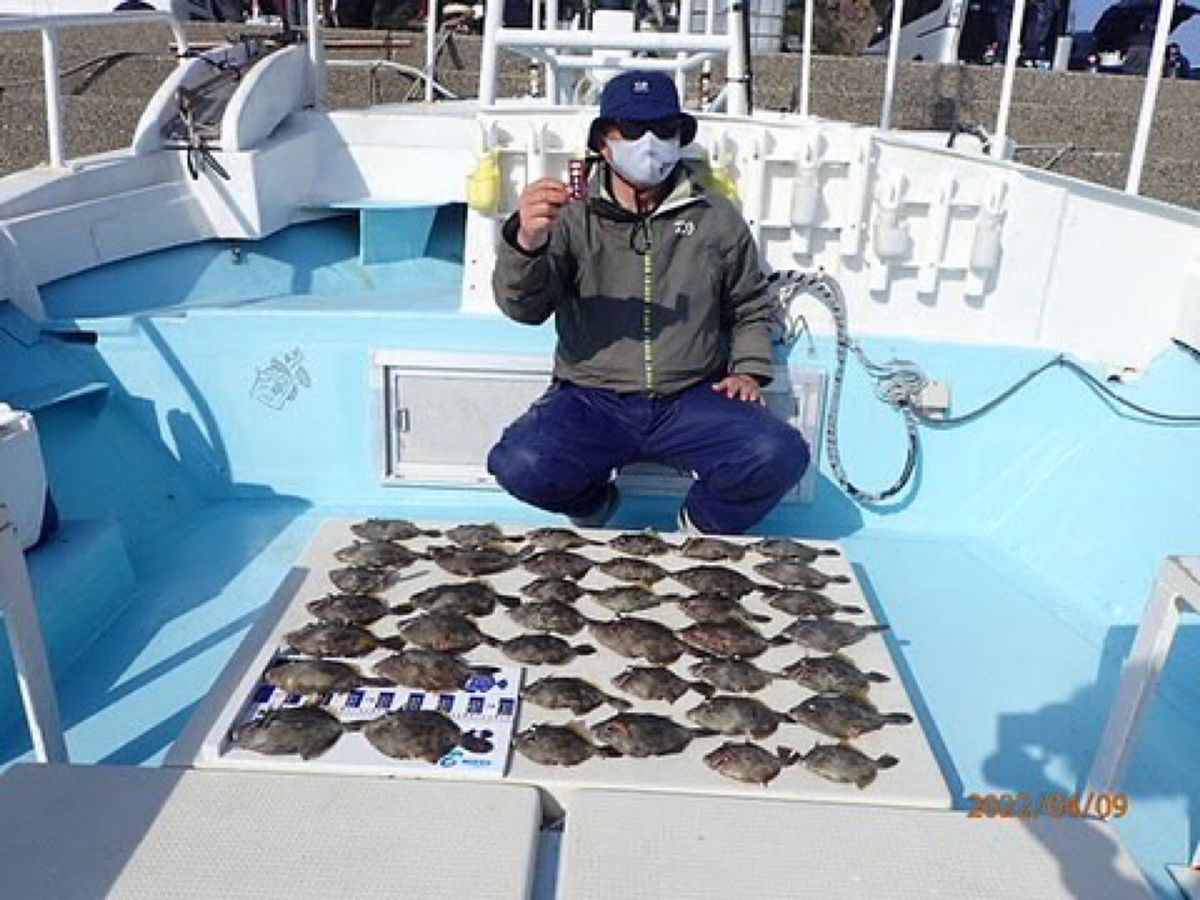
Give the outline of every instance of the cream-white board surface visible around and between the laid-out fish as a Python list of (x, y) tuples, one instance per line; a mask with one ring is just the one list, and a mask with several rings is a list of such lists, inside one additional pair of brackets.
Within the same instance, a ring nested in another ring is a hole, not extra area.
[[(173, 758), (175, 761), (190, 762), (194, 760), (194, 763), (202, 767), (233, 766), (274, 770), (337, 772), (342, 774), (403, 774), (391, 768), (386, 758), (374, 754), (374, 751), (365, 744), (364, 738), (359, 734), (344, 736), (338, 746), (338, 756), (342, 756), (344, 760), (344, 756), (341, 752), (343, 750), (342, 745), (349, 745), (358, 742), (364, 743), (361, 764), (354, 766), (328, 758), (317, 758), (304, 762), (298, 757), (268, 757), (251, 755), (245, 751), (239, 751), (232, 755), (228, 752), (229, 746), (227, 734), (229, 727), (236, 720), (242, 704), (251, 695), (253, 685), (269, 662), (275, 648), (281, 644), (283, 635), (299, 628), (305, 622), (311, 620), (310, 613), (305, 610), (306, 602), (318, 599), (332, 590), (332, 586), (330, 584), (325, 572), (331, 568), (341, 565), (340, 563), (334, 562), (332, 554), (338, 547), (346, 546), (353, 540), (353, 535), (349, 532), (349, 524), (350, 521), (347, 520), (330, 520), (322, 526), (308, 550), (296, 564), (296, 569), (294, 571), (298, 575), (298, 583), (294, 587), (293, 596), (289, 599), (280, 598), (280, 606), (276, 608), (282, 608), (282, 612), (278, 613), (278, 620), (271, 629), (270, 636), (265, 640), (265, 642), (260, 637), (256, 637), (241, 648), (239, 658), (235, 659), (230, 666), (230, 670), (238, 670), (244, 673), (236, 682), (229, 678), (228, 673), (227, 677), (222, 679), (220, 688), (222, 696), (220, 700), (214, 698), (214, 702), (221, 703), (223, 708), (211, 719), (214, 724), (206, 730), (203, 748), (193, 756), (173, 754)], [(438, 523), (425, 524), (426, 527), (438, 526)], [(512, 527), (509, 530), (516, 533), (521, 529)], [(596, 539), (607, 539), (613, 536), (616, 533), (588, 532), (587, 534)], [(671, 540), (678, 540), (678, 535), (667, 535), (667, 538)], [(752, 539), (745, 540), (749, 542)], [(410, 542), (410, 546), (419, 547), (427, 542), (427, 540), (422, 539)], [(599, 546), (584, 547), (577, 552), (590, 556), (595, 559), (614, 554), (610, 548)], [(757, 557), (755, 557), (755, 559), (757, 559)], [(748, 557), (742, 563), (736, 564), (736, 568), (751, 575), (756, 581), (766, 583), (767, 580), (755, 574), (750, 568), (755, 559)], [(678, 554), (659, 557), (655, 558), (655, 562), (664, 565), (666, 569), (672, 570), (700, 564), (698, 560), (684, 559)], [(840, 574), (851, 577), (851, 583), (832, 584), (826, 589), (826, 593), (839, 602), (856, 605), (864, 610), (860, 614), (845, 618), (851, 618), (862, 624), (874, 620), (870, 605), (866, 601), (851, 563), (845, 554), (821, 557), (816, 565), (828, 574)], [(535, 576), (532, 574), (522, 569), (517, 569), (490, 576), (487, 581), (500, 593), (516, 594), (521, 584), (532, 581), (534, 577)], [(410, 595), (439, 581), (448, 580), (456, 581), (457, 578), (446, 575), (432, 563), (419, 562), (408, 569), (402, 570), (402, 578), (400, 583), (392, 587), (384, 596), (389, 600), (389, 602), (401, 602), (406, 595)], [(592, 571), (588, 572), (581, 583), (593, 587), (607, 587), (617, 584), (618, 582), (596, 571)], [(690, 593), (680, 584), (668, 580), (659, 582), (656, 589), (659, 593)], [(578, 600), (575, 606), (589, 617), (598, 619), (612, 618), (612, 613), (607, 612), (604, 607), (588, 598)], [(768, 636), (774, 635), (784, 625), (792, 620), (791, 617), (778, 613), (768, 607), (766, 602), (756, 595), (750, 595), (745, 601), (745, 606), (756, 613), (772, 616), (772, 622), (761, 626), (763, 634)], [(655, 610), (638, 614), (658, 619), (672, 628), (682, 628), (689, 624), (688, 618), (678, 608), (672, 608), (670, 605), (664, 605)], [(394, 632), (395, 623), (396, 619), (394, 617), (386, 617), (377, 622), (372, 628), (378, 635), (388, 635)], [(497, 610), (491, 616), (480, 619), (479, 624), (485, 632), (502, 638), (511, 637), (521, 632), (521, 629), (500, 610)], [(594, 643), (587, 631), (570, 638), (570, 641), (572, 643)], [(755, 661), (763, 668), (778, 671), (788, 662), (792, 662), (804, 655), (804, 653), (805, 652), (802, 648), (794, 644), (773, 647)], [(907, 712), (916, 715), (913, 704), (908, 698), (904, 683), (896, 671), (895, 662), (892, 660), (888, 647), (882, 637), (878, 635), (871, 635), (862, 643), (846, 648), (844, 653), (853, 659), (854, 662), (864, 671), (880, 671), (890, 676), (890, 682), (875, 685), (871, 689), (871, 698), (881, 710), (888, 713)], [(364, 660), (356, 660), (356, 664), (362, 668), (368, 670), (377, 659), (382, 659), (385, 655), (388, 655), (388, 652), (380, 650), (371, 654)], [(467, 658), (473, 662), (487, 665), (511, 665), (510, 660), (508, 660), (498, 649), (492, 647), (479, 647), (467, 654)], [(672, 668), (680, 674), (686, 674), (686, 666), (694, 661), (696, 661), (696, 658), (685, 655), (677, 664), (674, 664)], [(604, 686), (610, 692), (619, 696), (620, 692), (611, 685), (611, 682), (613, 676), (619, 673), (626, 667), (626, 665), (630, 664), (630, 660), (625, 660), (607, 649), (601, 648), (600, 653), (593, 656), (576, 658), (572, 662), (565, 666), (526, 667), (524, 680), (528, 684), (536, 678), (551, 673), (576, 674), (588, 678), (595, 684)], [(786, 710), (802, 702), (805, 697), (810, 696), (810, 694), (811, 692), (808, 689), (790, 680), (781, 679), (756, 696), (774, 709)], [(685, 695), (673, 706), (661, 702), (638, 701), (632, 697), (628, 698), (635, 703), (635, 709), (637, 712), (653, 712), (670, 715), (679, 722), (686, 722), (685, 712), (701, 701), (701, 697), (696, 694)], [(210, 707), (211, 706), (212, 704), (210, 704)], [(594, 724), (601, 721), (614, 712), (616, 710), (608, 707), (601, 707), (589, 713), (587, 716), (582, 716), (581, 721), (584, 724)], [(204, 713), (204, 715), (212, 716), (211, 709)], [(517, 719), (517, 730), (527, 727), (534, 722), (565, 724), (571, 720), (572, 716), (566, 710), (547, 710), (523, 702)], [(724, 740), (740, 739), (742, 738), (725, 737), (701, 738), (694, 740), (684, 752), (677, 756), (648, 760), (607, 760), (598, 757), (574, 768), (538, 766), (523, 756), (514, 752), (509, 763), (506, 780), (542, 787), (548, 792), (551, 798), (553, 798), (563, 808), (568, 809), (571, 792), (581, 787), (652, 791), (670, 790), (724, 793), (744, 797), (768, 796), (851, 803), (898, 804), (904, 806), (949, 808), (952, 805), (949, 788), (919, 722), (906, 726), (886, 726), (880, 732), (863, 736), (853, 742), (856, 746), (871, 757), (877, 757), (882, 754), (892, 754), (900, 760), (900, 764), (895, 768), (880, 773), (875, 784), (866, 790), (858, 790), (852, 785), (832, 784), (808, 772), (803, 767), (793, 767), (785, 770), (785, 773), (772, 782), (768, 788), (762, 788), (721, 778), (709, 770), (703, 763), (703, 755), (719, 746)], [(804, 726), (784, 724), (780, 726), (779, 731), (775, 732), (775, 734), (762, 739), (758, 743), (768, 748), (787, 745), (800, 751), (808, 751), (817, 742), (832, 743), (832, 739), (822, 737)], [(422, 776), (438, 778), (443, 773), (439, 773), (437, 767), (431, 766), (428, 767), (427, 775)]]

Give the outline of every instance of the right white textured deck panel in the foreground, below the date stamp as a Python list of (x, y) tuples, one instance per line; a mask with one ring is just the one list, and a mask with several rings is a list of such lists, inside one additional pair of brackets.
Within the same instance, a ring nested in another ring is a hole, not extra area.
[(1115, 833), (1082, 820), (581, 791), (566, 822), (570, 900), (1139, 900)]

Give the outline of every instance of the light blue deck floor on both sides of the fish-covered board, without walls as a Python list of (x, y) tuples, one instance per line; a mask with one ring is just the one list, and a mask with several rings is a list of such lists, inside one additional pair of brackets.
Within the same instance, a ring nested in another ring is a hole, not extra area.
[[(59, 676), (73, 760), (161, 762), (320, 521), (347, 512), (221, 502), (138, 550), (139, 595)], [(462, 518), (457, 504), (420, 515)], [(1055, 612), (1069, 605), (988, 545), (881, 530), (859, 532), (845, 545), (892, 624), (893, 648), (952, 788), (964, 797), (1075, 791), (1132, 630), (1097, 644)], [(1147, 734), (1154, 737), (1142, 742), (1129, 775), (1133, 812), (1120, 830), (1170, 896), (1163, 866), (1184, 862), (1183, 838), (1195, 834), (1194, 822), (1180, 827), (1189, 810), (1172, 760), (1200, 745), (1200, 728), (1160, 702)], [(10, 736), (0, 761), (25, 752)], [(1178, 846), (1164, 847), (1164, 828), (1181, 835)]]

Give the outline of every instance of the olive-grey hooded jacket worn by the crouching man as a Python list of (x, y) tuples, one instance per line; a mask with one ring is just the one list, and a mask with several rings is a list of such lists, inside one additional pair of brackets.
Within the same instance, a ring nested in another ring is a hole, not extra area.
[(541, 250), (502, 229), (492, 287), (504, 313), (554, 316), (554, 377), (622, 392), (671, 395), (704, 378), (772, 374), (772, 301), (742, 215), (683, 164), (648, 216), (622, 209), (596, 166), (587, 202), (568, 203)]

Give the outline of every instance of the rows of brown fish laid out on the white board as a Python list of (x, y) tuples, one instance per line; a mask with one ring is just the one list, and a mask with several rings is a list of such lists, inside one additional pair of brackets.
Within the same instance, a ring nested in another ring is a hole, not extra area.
[[(569, 709), (583, 715), (601, 706), (616, 715), (590, 726), (533, 725), (515, 739), (518, 752), (541, 764), (575, 766), (593, 757), (649, 757), (678, 754), (694, 738), (716, 734), (756, 739), (775, 733), (780, 725), (803, 724), (838, 738), (836, 744), (817, 744), (808, 754), (788, 748), (768, 751), (749, 742), (722, 744), (704, 761), (728, 778), (767, 784), (794, 763), (835, 781), (869, 785), (878, 769), (896, 763), (895, 757), (872, 760), (848, 743), (892, 724), (905, 724), (905, 713), (880, 713), (868, 700), (872, 683), (888, 680), (876, 672), (862, 672), (838, 650), (857, 643), (881, 625), (857, 625), (832, 618), (838, 612), (860, 612), (840, 606), (820, 588), (841, 576), (829, 576), (810, 566), (818, 556), (835, 553), (798, 541), (768, 539), (733, 544), (713, 538), (692, 538), (672, 546), (653, 533), (623, 534), (608, 541), (619, 553), (634, 554), (595, 562), (572, 551), (596, 541), (563, 528), (544, 528), (526, 535), (506, 535), (496, 526), (460, 526), (444, 535), (425, 532), (398, 520), (368, 520), (353, 526), (365, 542), (337, 552), (347, 568), (330, 572), (341, 593), (308, 604), (317, 619), (286, 636), (292, 649), (313, 659), (286, 660), (272, 666), (264, 679), (293, 694), (319, 696), (360, 686), (404, 685), (431, 691), (463, 688), (476, 674), (494, 671), (463, 659), (480, 644), (497, 647), (524, 665), (565, 665), (576, 655), (595, 653), (590, 644), (571, 644), (570, 637), (587, 628), (607, 649), (649, 665), (634, 665), (613, 679), (624, 694), (674, 703), (689, 691), (702, 702), (689, 709), (690, 726), (670, 718), (636, 713), (623, 697), (605, 692), (574, 677), (542, 678), (523, 691), (527, 702), (550, 709)], [(444, 536), (450, 546), (432, 546), (416, 553), (402, 541)], [(520, 551), (508, 545), (524, 541)], [(698, 565), (668, 571), (646, 557), (678, 552), (692, 559), (738, 560), (746, 552), (768, 559), (755, 570), (776, 582), (758, 583), (737, 570)], [(521, 588), (522, 598), (498, 594), (482, 581), (444, 583), (427, 588), (401, 606), (389, 606), (378, 593), (390, 587), (396, 572), (418, 559), (432, 559), (454, 575), (479, 577), (522, 566), (539, 576)], [(624, 584), (588, 589), (577, 583), (593, 568)], [(673, 578), (691, 595), (661, 594), (653, 586)], [(760, 592), (773, 608), (798, 617), (773, 637), (763, 636), (755, 623), (769, 620), (745, 608), (742, 598)], [(617, 618), (595, 619), (572, 604), (588, 596)], [(673, 631), (635, 613), (671, 604), (694, 624)], [(503, 607), (527, 634), (499, 640), (479, 628), (476, 618)], [(397, 634), (379, 637), (370, 625), (386, 614), (420, 614), (401, 622)], [(828, 655), (805, 656), (780, 672), (757, 667), (751, 660), (772, 646), (797, 643)], [(395, 653), (367, 676), (354, 665), (325, 659), (364, 656), (384, 648)], [(688, 680), (666, 668), (680, 656), (700, 660), (690, 665)], [(776, 679), (793, 680), (816, 694), (786, 713), (770, 709), (745, 696)], [(718, 691), (722, 691), (719, 694)], [(380, 719), (343, 724), (316, 707), (280, 709), (242, 726), (234, 733), (241, 746), (259, 752), (299, 754), (304, 758), (324, 752), (348, 730), (361, 730), (380, 752), (397, 758), (436, 762), (455, 746), (480, 749), (486, 738), (463, 733), (448, 716), (431, 710), (397, 710)]]

